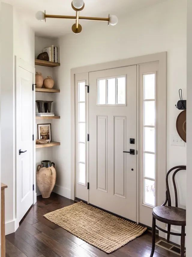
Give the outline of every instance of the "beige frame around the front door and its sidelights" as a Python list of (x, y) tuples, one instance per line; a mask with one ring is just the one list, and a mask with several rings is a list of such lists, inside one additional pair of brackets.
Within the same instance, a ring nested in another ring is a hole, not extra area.
[[(141, 63), (148, 63), (148, 62), (159, 62), (159, 83), (161, 84), (161, 87), (164, 88), (166, 92), (167, 88), (167, 52), (161, 52), (156, 54), (149, 54), (139, 57), (133, 57), (125, 60), (117, 60), (117, 61), (111, 61), (107, 63), (101, 63), (101, 64), (95, 64), (95, 65), (89, 65), (89, 66), (82, 66), (71, 69), (70, 77), (71, 77), (71, 199), (74, 200), (75, 198), (75, 83), (74, 78), (75, 74), (78, 73), (85, 73), (85, 72), (94, 72), (99, 70), (105, 70), (105, 69), (113, 69), (113, 68), (120, 68), (124, 66), (130, 66), (130, 65), (137, 65), (137, 99), (139, 99), (139, 64)], [(166, 99), (165, 99), (166, 100)], [(139, 102), (138, 102), (139, 103)], [(138, 104), (137, 104), (138, 106)], [(140, 110), (137, 108), (137, 124), (139, 124), (139, 113)], [(165, 117), (167, 117), (167, 104), (162, 106), (161, 114), (164, 114)], [(160, 173), (158, 176), (158, 189), (159, 189), (159, 197), (157, 199), (157, 204), (162, 204), (164, 202), (165, 197), (165, 191), (166, 191), (166, 183), (165, 183), (165, 177), (166, 177), (166, 167), (167, 167), (167, 126), (166, 126), (166, 119), (165, 123), (162, 124), (163, 127), (163, 139), (162, 142), (165, 145), (165, 151), (162, 153), (163, 161), (158, 167), (158, 170), (164, 170), (164, 172)], [(161, 128), (162, 129), (162, 128)], [(139, 126), (137, 126), (137, 138), (139, 136)], [(138, 141), (137, 141), (138, 144)], [(139, 148), (139, 145), (137, 145), (137, 149)], [(139, 158), (137, 156), (137, 221), (139, 219)]]

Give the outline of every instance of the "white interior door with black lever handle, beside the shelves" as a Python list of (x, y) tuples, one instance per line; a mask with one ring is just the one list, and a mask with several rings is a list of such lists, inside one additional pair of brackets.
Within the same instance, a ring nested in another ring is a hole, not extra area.
[(16, 198), (17, 222), (33, 204), (33, 96), (35, 69), (16, 64)]

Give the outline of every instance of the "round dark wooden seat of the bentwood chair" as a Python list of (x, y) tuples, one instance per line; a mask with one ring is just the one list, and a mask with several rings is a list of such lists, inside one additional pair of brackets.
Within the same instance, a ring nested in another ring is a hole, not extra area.
[(167, 224), (185, 226), (186, 210), (173, 206), (157, 206), (153, 209), (155, 219)]

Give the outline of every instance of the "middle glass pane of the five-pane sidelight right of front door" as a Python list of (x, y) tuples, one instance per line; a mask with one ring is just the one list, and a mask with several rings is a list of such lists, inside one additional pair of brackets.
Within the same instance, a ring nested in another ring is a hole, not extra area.
[(144, 128), (144, 151), (155, 152), (155, 128)]

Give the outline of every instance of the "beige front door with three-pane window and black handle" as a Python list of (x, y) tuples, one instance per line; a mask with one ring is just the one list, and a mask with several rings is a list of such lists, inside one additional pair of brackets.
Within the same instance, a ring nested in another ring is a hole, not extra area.
[(136, 96), (136, 65), (89, 73), (89, 203), (133, 221)]

